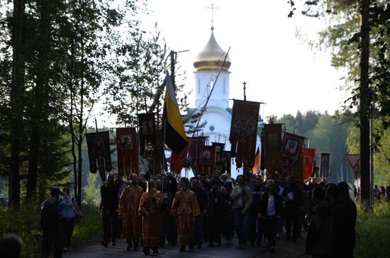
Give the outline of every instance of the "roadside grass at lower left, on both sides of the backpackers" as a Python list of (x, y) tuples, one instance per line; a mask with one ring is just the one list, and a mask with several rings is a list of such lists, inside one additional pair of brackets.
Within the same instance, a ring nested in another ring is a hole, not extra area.
[[(98, 207), (83, 204), (84, 218), (75, 225), (72, 247), (101, 236), (101, 218)], [(10, 208), (0, 208), (0, 236), (15, 233), (23, 240), (22, 257), (40, 257), (42, 230), (40, 230), (40, 205), (23, 204), (16, 212)]]

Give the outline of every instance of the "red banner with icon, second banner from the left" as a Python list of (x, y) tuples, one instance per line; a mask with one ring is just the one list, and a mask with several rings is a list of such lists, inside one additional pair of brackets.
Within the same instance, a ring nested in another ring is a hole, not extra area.
[(137, 133), (135, 128), (116, 128), (118, 173), (120, 176), (138, 174)]

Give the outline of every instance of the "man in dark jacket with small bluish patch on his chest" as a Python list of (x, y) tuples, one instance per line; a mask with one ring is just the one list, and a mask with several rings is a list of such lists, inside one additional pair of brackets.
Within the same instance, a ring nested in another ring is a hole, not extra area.
[(302, 191), (296, 186), (296, 180), (294, 176), (289, 176), (287, 179), (287, 185), (284, 188), (282, 198), (285, 201), (284, 208), (284, 225), (286, 227), (286, 240), (291, 238), (291, 226), (292, 226), (292, 240), (296, 241), (296, 235), (298, 233), (299, 211), (302, 210)]

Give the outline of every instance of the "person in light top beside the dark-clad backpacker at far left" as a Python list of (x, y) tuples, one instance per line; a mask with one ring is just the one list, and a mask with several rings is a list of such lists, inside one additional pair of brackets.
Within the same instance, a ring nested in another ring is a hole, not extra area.
[[(77, 205), (77, 200), (74, 198), (74, 196), (70, 197), (70, 189), (69, 187), (64, 187), (62, 189), (65, 193), (67, 193), (67, 196), (69, 196), (70, 201), (72, 203), (72, 206), (68, 206), (62, 211), (62, 228), (63, 228), (63, 245), (62, 245), (62, 251), (67, 252), (70, 245), (70, 239), (73, 235), (73, 229), (74, 229), (74, 222), (76, 219), (76, 215), (79, 217), (83, 217), (82, 212), (79, 209), (79, 206)], [(60, 198), (60, 201), (62, 203), (67, 203), (67, 198)]]

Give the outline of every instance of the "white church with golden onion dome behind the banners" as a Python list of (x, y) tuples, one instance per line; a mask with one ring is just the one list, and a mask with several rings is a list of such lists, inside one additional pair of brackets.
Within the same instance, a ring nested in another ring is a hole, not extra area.
[[(231, 60), (229, 56), (226, 57), (226, 54), (227, 52), (218, 45), (212, 26), (208, 43), (204, 49), (196, 55), (194, 61), (194, 67), (196, 69), (194, 72), (195, 109), (189, 111), (189, 113), (194, 113), (196, 110), (199, 111), (204, 107), (206, 100), (210, 95), (210, 91), (214, 86), (206, 106), (206, 111), (203, 116), (201, 116), (199, 124), (206, 122), (206, 125), (201, 128), (199, 136), (207, 136), (208, 145), (211, 145), (211, 142), (221, 142), (225, 143), (225, 150), (230, 150), (229, 134), (232, 120), (232, 108), (229, 107), (229, 68)], [(223, 62), (223, 60), (225, 60), (225, 62)], [(217, 79), (220, 69), (221, 72)], [(257, 146), (261, 146), (259, 136), (257, 136)], [(235, 177), (242, 173), (243, 169), (237, 170), (235, 162), (232, 161), (231, 176)]]

